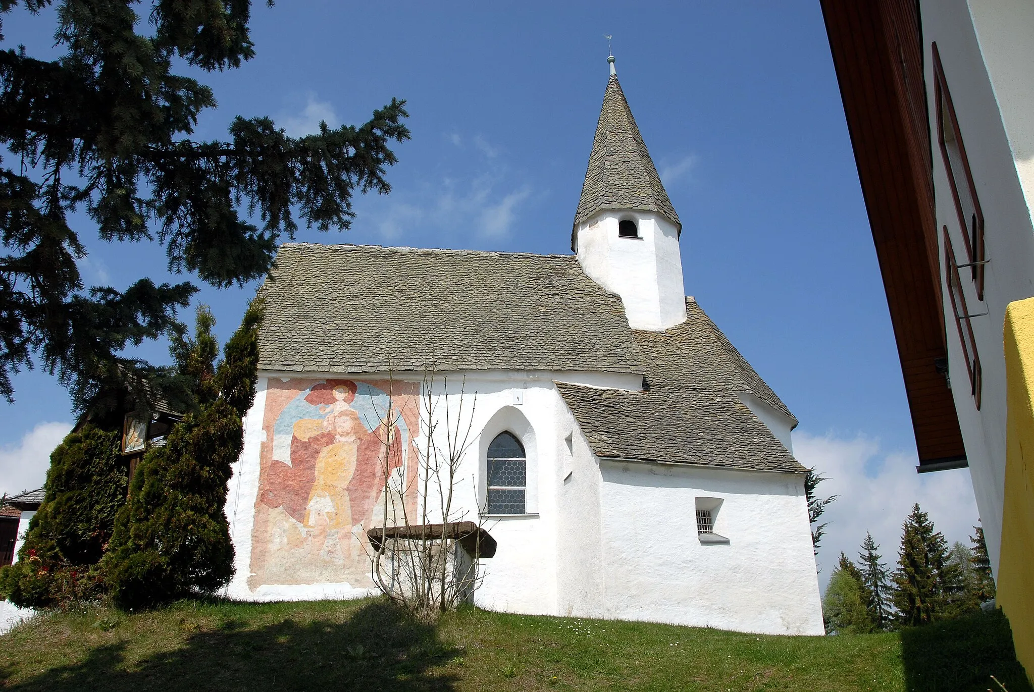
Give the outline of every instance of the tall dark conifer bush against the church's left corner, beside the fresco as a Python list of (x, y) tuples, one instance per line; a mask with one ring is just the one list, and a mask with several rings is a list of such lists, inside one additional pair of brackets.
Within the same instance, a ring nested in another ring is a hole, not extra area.
[(173, 355), (196, 383), (200, 410), (170, 431), (136, 468), (129, 503), (104, 559), (112, 596), (126, 607), (213, 593), (233, 576), (234, 547), (223, 511), (226, 483), (243, 447), (258, 365), (262, 306), (252, 304), (214, 364), (214, 324), (199, 309), (195, 337), (179, 334)]

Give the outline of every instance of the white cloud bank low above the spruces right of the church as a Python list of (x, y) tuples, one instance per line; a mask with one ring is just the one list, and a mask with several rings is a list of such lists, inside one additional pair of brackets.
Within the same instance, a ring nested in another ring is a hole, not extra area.
[(819, 485), (819, 497), (840, 495), (822, 515), (822, 521), (830, 522), (819, 544), (823, 590), (842, 550), (857, 561), (866, 531), (880, 544), (887, 567), (895, 568), (902, 523), (915, 503), (930, 514), (948, 543), (968, 544), (977, 525), (976, 501), (966, 469), (917, 474), (914, 453), (883, 450), (879, 440), (860, 434), (844, 439), (794, 432), (793, 451), (801, 463), (815, 467), (829, 479)]

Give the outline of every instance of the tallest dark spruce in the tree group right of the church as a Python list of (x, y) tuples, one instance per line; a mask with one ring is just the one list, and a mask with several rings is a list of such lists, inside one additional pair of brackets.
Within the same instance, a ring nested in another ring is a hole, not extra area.
[(947, 544), (918, 503), (902, 529), (898, 569), (891, 577), (898, 621), (906, 627), (927, 625), (943, 608)]

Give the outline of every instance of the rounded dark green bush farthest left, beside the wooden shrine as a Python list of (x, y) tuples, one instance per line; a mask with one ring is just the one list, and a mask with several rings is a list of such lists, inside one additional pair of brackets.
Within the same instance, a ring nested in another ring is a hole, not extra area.
[(97, 568), (126, 502), (127, 464), (120, 434), (87, 423), (51, 453), (43, 503), (19, 560), (0, 569), (0, 594), (42, 608), (103, 593)]

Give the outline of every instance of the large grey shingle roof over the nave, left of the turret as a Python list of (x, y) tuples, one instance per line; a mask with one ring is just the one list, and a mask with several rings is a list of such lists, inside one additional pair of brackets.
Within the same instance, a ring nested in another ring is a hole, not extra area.
[(285, 244), (260, 367), (640, 372), (620, 298), (571, 255)]

